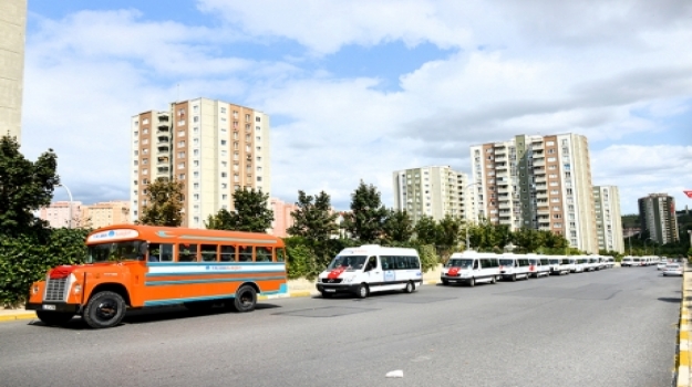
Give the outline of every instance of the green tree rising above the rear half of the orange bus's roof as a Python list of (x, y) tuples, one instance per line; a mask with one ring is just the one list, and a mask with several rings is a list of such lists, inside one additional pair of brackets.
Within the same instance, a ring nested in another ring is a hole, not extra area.
[(234, 230), (267, 232), (271, 228), (273, 211), (269, 208), (269, 194), (255, 188), (238, 189), (234, 192), (235, 213), (231, 213)]

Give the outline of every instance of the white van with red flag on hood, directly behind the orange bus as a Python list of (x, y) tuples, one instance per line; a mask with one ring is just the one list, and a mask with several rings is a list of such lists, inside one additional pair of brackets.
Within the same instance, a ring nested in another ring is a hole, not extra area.
[(320, 273), (317, 290), (324, 299), (353, 293), (364, 299), (372, 292), (413, 292), (423, 284), (421, 259), (415, 249), (364, 244), (343, 249)]

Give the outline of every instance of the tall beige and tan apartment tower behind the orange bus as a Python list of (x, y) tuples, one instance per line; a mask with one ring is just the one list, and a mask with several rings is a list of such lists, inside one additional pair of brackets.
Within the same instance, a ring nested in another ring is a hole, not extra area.
[(142, 213), (146, 186), (157, 178), (184, 184), (184, 227), (204, 228), (209, 215), (234, 210), (233, 192), (271, 191), (269, 116), (250, 107), (196, 98), (131, 121), (131, 220)]

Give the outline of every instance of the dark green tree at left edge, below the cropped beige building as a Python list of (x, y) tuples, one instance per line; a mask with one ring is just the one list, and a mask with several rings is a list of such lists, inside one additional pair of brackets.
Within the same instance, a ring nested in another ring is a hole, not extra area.
[(60, 182), (53, 149), (32, 163), (19, 148), (14, 138), (0, 138), (0, 236), (17, 237), (44, 227), (32, 211), (51, 203)]

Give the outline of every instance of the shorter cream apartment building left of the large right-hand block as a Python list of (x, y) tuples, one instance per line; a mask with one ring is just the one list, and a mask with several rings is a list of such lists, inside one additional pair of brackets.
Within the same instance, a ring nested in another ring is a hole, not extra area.
[(465, 191), (468, 177), (448, 166), (403, 169), (393, 172), (394, 209), (406, 210), (414, 222), (423, 216), (446, 215), (466, 219), (473, 203)]

